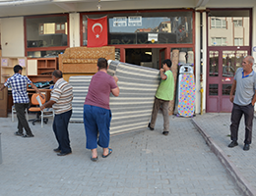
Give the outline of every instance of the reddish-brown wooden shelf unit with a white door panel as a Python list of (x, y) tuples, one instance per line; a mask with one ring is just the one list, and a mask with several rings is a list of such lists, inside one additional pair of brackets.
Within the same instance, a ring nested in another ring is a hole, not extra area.
[(52, 80), (52, 72), (57, 69), (57, 57), (28, 59), (28, 76), (32, 82)]

